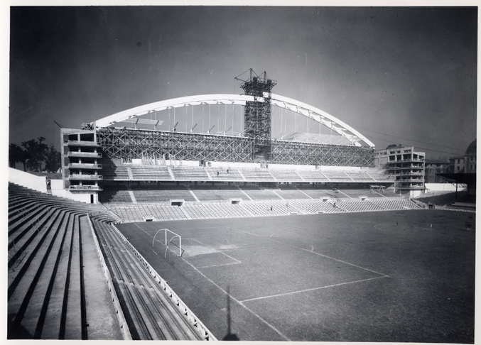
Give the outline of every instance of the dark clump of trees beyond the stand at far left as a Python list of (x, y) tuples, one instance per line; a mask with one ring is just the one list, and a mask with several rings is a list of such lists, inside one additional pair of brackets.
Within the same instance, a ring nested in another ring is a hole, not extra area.
[(21, 146), (16, 143), (9, 145), (9, 167), (15, 168), (16, 163), (23, 164), (23, 171), (57, 172), (60, 168), (61, 155), (53, 144), (44, 143), (43, 136), (37, 139), (23, 141)]

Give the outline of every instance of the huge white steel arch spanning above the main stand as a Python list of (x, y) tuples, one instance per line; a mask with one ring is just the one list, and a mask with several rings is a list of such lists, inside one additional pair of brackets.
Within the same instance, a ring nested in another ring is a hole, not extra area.
[[(327, 128), (332, 129), (336, 133), (347, 138), (353, 145), (362, 146), (360, 141), (364, 141), (368, 146), (374, 148), (374, 143), (369, 141), (368, 138), (356, 131), (354, 128), (345, 124), (345, 122), (337, 119), (335, 116), (326, 113), (323, 110), (310, 106), (309, 104), (298, 102), (295, 99), (283, 97), (278, 94), (271, 95), (271, 104), (279, 106), (283, 109), (288, 109), (313, 119), (314, 121), (323, 124)], [(167, 99), (161, 102), (154, 102), (150, 104), (144, 104), (142, 106), (136, 106), (135, 108), (120, 111), (117, 114), (113, 114), (94, 122), (94, 126), (97, 128), (104, 128), (112, 126), (118, 122), (126, 121), (138, 116), (148, 114), (151, 111), (163, 111), (166, 109), (180, 108), (183, 106), (195, 106), (202, 104), (232, 104), (232, 105), (244, 105), (246, 102), (264, 102), (264, 98), (247, 96), (241, 94), (202, 94), (198, 96), (179, 97), (174, 99)]]

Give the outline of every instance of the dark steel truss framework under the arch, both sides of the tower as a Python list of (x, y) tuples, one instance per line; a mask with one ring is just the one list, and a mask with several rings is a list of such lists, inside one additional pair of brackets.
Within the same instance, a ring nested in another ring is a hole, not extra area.
[[(254, 139), (164, 131), (103, 128), (97, 133), (105, 158), (146, 158), (254, 162)], [(271, 141), (269, 163), (374, 166), (374, 150), (291, 141)]]

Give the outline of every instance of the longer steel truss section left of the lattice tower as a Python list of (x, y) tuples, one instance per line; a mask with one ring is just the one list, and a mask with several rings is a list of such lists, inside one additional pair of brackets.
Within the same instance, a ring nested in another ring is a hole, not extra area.
[(126, 160), (164, 156), (177, 160), (250, 162), (254, 149), (252, 138), (119, 128), (102, 128), (97, 132), (97, 141), (105, 158)]

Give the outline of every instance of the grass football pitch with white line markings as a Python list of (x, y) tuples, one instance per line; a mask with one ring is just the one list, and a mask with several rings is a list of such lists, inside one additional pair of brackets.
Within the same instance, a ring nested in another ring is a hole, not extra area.
[[(474, 343), (474, 218), (414, 210), (117, 227), (217, 339), (229, 314), (240, 340)], [(164, 259), (161, 233), (152, 247), (163, 228), (182, 236), (183, 256), (171, 245)]]

